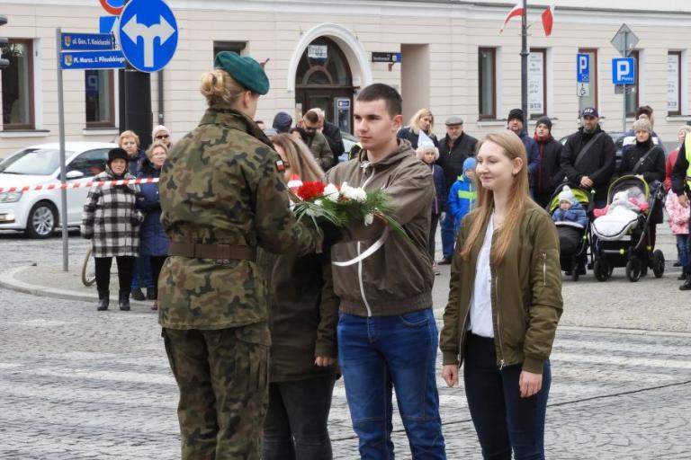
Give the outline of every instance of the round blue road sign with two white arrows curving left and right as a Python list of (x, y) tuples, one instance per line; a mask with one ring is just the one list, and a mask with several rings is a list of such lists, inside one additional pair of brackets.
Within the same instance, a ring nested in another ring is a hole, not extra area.
[(122, 10), (119, 35), (122, 53), (141, 72), (157, 72), (175, 55), (177, 22), (163, 0), (131, 0)]

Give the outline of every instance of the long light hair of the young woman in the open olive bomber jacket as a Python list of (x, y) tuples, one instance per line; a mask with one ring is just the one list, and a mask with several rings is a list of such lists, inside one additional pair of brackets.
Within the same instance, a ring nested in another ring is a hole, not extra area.
[[(500, 146), (509, 160), (513, 161), (515, 158), (521, 158), (523, 160), (523, 167), (514, 175), (514, 181), (508, 192), (507, 217), (504, 219), (504, 225), (498, 231), (495, 244), (492, 245), (492, 251), (490, 253), (492, 263), (494, 265), (500, 265), (501, 262), (504, 261), (504, 256), (507, 254), (508, 245), (511, 243), (511, 236), (514, 234), (514, 230), (523, 216), (525, 204), (529, 200), (528, 161), (523, 141), (512, 131), (504, 130), (488, 134), (480, 141), (478, 151), (480, 151), (480, 147), (486, 142), (491, 142)], [(479, 179), (475, 181), (478, 190), (478, 207), (472, 211), (475, 214), (475, 218), (472, 221), (471, 231), (465, 239), (465, 242), (463, 242), (461, 257), (464, 261), (470, 259), (472, 247), (475, 243), (479, 243), (482, 238), (484, 238), (483, 226), (494, 210), (494, 193), (492, 190), (483, 188)]]

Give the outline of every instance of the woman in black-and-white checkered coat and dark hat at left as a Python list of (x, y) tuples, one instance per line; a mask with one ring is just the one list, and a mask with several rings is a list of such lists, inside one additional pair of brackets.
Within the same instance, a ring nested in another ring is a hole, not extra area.
[[(94, 181), (135, 179), (127, 171), (127, 152), (113, 148), (108, 152), (105, 171)], [(107, 310), (110, 296), (111, 265), (114, 257), (118, 264), (121, 310), (130, 310), (130, 285), (134, 259), (139, 253), (139, 225), (143, 215), (135, 208), (139, 186), (106, 185), (92, 187), (86, 197), (82, 214), (81, 234), (91, 240), (96, 266), (98, 288), (97, 310)]]

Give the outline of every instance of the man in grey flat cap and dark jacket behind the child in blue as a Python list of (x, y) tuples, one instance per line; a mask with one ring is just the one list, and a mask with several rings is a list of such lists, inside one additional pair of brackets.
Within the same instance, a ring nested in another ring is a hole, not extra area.
[[(450, 117), (446, 119), (446, 136), (439, 142), (439, 164), (444, 170), (444, 182), (446, 184), (446, 195), (453, 182), (463, 174), (463, 162), (466, 158), (475, 155), (475, 146), (478, 139), (463, 132), (463, 119), (461, 117)], [(444, 203), (444, 209), (445, 206)], [(442, 251), (444, 258), (439, 261), (440, 265), (451, 263), (453, 256), (453, 243), (455, 241), (453, 216), (446, 213), (442, 220)]]

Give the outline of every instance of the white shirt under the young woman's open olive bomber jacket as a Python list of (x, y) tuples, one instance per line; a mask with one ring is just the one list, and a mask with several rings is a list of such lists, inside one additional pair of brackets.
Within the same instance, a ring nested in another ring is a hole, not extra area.
[(494, 234), (494, 213), (489, 217), (485, 239), (475, 262), (475, 284), (471, 295), (471, 323), (468, 329), (481, 337), (494, 337), (492, 325), (492, 272), (489, 267), (489, 253)]

